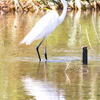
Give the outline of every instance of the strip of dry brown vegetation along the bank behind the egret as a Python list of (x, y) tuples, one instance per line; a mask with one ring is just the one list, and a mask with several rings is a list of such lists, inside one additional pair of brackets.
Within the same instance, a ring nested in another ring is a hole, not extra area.
[[(62, 9), (62, 4), (54, 0), (0, 0), (0, 10), (3, 11), (45, 11), (47, 9)], [(68, 11), (100, 10), (97, 0), (68, 0)]]

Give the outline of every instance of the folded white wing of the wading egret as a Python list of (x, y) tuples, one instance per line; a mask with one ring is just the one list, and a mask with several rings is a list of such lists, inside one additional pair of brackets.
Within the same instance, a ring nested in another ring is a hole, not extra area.
[(47, 13), (36, 23), (21, 43), (26, 42), (26, 45), (30, 45), (32, 41), (48, 36), (55, 30), (58, 25), (58, 21), (59, 15), (56, 11)]

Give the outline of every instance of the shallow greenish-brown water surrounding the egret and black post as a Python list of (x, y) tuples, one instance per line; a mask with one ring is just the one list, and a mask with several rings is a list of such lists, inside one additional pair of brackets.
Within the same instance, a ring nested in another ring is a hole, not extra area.
[[(41, 45), (39, 63), (36, 46), (41, 40), (19, 43), (43, 15), (1, 13), (0, 29), (7, 26), (0, 30), (0, 99), (99, 100), (100, 12), (68, 12), (48, 36), (47, 62), (45, 42)], [(81, 62), (83, 46), (88, 48), (87, 66)]]

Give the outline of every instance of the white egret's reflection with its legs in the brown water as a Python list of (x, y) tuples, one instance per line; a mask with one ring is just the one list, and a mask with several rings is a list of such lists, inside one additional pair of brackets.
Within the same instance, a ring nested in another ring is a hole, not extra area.
[[(41, 62), (38, 63), (37, 74), (40, 72)], [(54, 87), (54, 83), (46, 79), (47, 61), (44, 62), (45, 81), (35, 79), (30, 75), (22, 77), (22, 82), (27, 95), (34, 96), (36, 100), (65, 100), (63, 90)]]

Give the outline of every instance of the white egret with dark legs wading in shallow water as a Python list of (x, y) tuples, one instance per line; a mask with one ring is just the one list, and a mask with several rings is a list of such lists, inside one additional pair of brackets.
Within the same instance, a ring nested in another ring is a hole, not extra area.
[[(47, 36), (51, 34), (59, 24), (61, 24), (66, 16), (67, 13), (67, 1), (61, 0), (63, 4), (63, 11), (61, 16), (55, 10), (50, 11), (46, 15), (44, 15), (33, 27), (33, 29), (26, 35), (26, 37), (20, 42), (20, 44), (26, 43), (26, 45), (30, 45), (34, 40), (41, 39), (43, 40), (37, 46), (36, 50), (38, 53), (39, 60), (41, 61), (41, 57), (39, 54), (39, 47), (42, 42), (47, 40)], [(46, 44), (45, 44), (45, 59), (47, 60), (47, 53), (46, 53)]]

